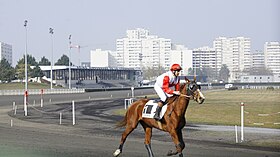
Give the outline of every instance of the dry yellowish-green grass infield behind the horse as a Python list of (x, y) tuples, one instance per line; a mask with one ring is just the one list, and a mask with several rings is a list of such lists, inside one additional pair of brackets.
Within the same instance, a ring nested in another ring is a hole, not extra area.
[[(280, 129), (280, 90), (239, 89), (207, 91), (203, 104), (190, 101), (186, 113), (188, 123), (239, 125), (240, 103), (244, 107), (244, 125)], [(115, 114), (124, 115), (125, 110)]]

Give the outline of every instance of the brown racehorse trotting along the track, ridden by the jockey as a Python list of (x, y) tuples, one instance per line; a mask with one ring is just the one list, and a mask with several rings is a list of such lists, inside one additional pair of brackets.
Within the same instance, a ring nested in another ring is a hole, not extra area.
[(181, 95), (173, 96), (167, 100), (168, 106), (165, 115), (160, 121), (153, 118), (143, 118), (142, 111), (148, 99), (140, 99), (129, 107), (124, 119), (117, 124), (117, 127), (124, 127), (119, 148), (113, 153), (115, 157), (119, 156), (122, 152), (124, 142), (127, 136), (137, 127), (138, 123), (142, 125), (145, 131), (145, 147), (148, 151), (149, 157), (154, 157), (151, 149), (152, 129), (157, 128), (162, 131), (168, 132), (173, 142), (175, 143), (176, 151), (169, 151), (168, 156), (179, 154), (183, 157), (182, 150), (185, 148), (183, 141), (182, 129), (186, 124), (185, 113), (189, 104), (189, 100), (193, 99), (199, 104), (204, 101), (204, 96), (200, 92), (200, 85), (194, 81), (186, 79), (185, 84), (180, 88)]

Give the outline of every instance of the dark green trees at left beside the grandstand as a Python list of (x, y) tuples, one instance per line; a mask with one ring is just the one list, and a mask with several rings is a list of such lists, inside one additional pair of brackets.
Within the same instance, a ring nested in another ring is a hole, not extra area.
[[(72, 62), (70, 63), (71, 65)], [(29, 78), (43, 77), (40, 66), (50, 66), (51, 62), (43, 56), (39, 62), (32, 55), (27, 55), (27, 72)], [(69, 57), (62, 55), (54, 65), (69, 65)], [(31, 68), (32, 67), (32, 68)], [(0, 80), (2, 82), (11, 82), (12, 80), (23, 80), (25, 78), (25, 56), (18, 60), (17, 65), (13, 67), (5, 58), (0, 61)]]

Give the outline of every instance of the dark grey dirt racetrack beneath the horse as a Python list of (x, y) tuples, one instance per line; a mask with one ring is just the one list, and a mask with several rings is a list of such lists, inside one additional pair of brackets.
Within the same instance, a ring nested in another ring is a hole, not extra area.
[[(1, 97), (2, 102), (8, 102), (3, 99), (9, 98)], [(122, 117), (112, 115), (112, 110), (122, 108), (123, 99), (96, 99), (76, 103), (74, 126), (70, 102), (59, 104), (53, 102), (44, 105), (43, 108), (38, 104), (30, 105), (27, 117), (23, 116), (20, 105), (17, 114), (14, 115), (11, 104), (0, 104), (0, 157), (110, 157), (119, 145), (123, 128), (116, 129), (115, 123)], [(63, 115), (61, 125), (59, 125), (60, 112)], [(188, 126), (183, 130), (186, 142), (184, 156), (280, 156), (277, 148), (235, 144), (234, 132), (201, 130), (199, 127), (199, 125)], [(256, 139), (279, 141), (279, 136), (277, 132), (246, 134), (248, 143)], [(141, 126), (138, 126), (128, 137), (121, 156), (147, 156), (143, 142), (144, 133)], [(154, 129), (152, 149), (155, 156), (166, 156), (167, 151), (174, 148), (167, 133)]]

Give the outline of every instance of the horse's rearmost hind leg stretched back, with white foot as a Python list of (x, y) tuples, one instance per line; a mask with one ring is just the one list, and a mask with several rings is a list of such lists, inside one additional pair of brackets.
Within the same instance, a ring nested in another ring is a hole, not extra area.
[(134, 122), (132, 124), (128, 123), (126, 125), (126, 128), (125, 128), (124, 132), (122, 133), (122, 138), (121, 138), (119, 148), (113, 153), (113, 155), (115, 157), (119, 156), (122, 153), (123, 145), (124, 145), (124, 142), (125, 142), (127, 136), (137, 127), (137, 124), (138, 124), (138, 122)]

